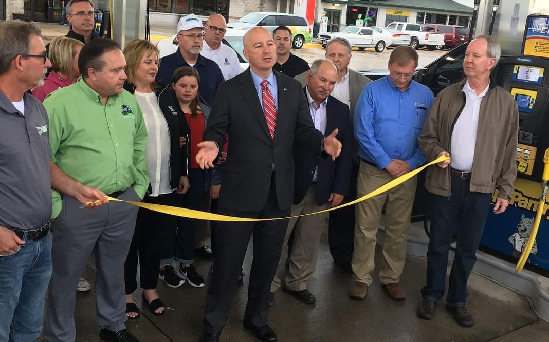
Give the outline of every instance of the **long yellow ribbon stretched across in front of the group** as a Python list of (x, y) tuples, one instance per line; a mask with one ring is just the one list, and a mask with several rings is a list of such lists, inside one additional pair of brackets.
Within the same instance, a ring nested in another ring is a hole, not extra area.
[(431, 165), (434, 165), (436, 163), (443, 162), (447, 159), (450, 159), (450, 158), (446, 157), (446, 156), (441, 156), (439, 158), (436, 158), (434, 161), (432, 161), (428, 164), (425, 164), (424, 166), (422, 166), (420, 168), (412, 170), (411, 172), (408, 172), (408, 173), (400, 176), (399, 178), (395, 178), (395, 179), (391, 180), (389, 183), (383, 185), (382, 187), (379, 187), (378, 189), (376, 189), (376, 190), (374, 190), (370, 193), (367, 193), (366, 195), (364, 195), (360, 198), (357, 198), (356, 200), (351, 201), (349, 203), (341, 204), (340, 206), (320, 210), (320, 211), (314, 212), (314, 213), (307, 213), (307, 214), (289, 216), (289, 217), (285, 217), (285, 218), (268, 218), (268, 219), (240, 218), (240, 217), (236, 217), (236, 216), (227, 216), (227, 215), (219, 215), (219, 214), (201, 212), (199, 210), (193, 210), (193, 209), (163, 206), (161, 204), (151, 204), (151, 203), (142, 203), (142, 202), (134, 202), (134, 201), (124, 201), (124, 200), (119, 200), (118, 198), (113, 198), (113, 197), (109, 197), (109, 196), (107, 196), (107, 197), (108, 197), (109, 201), (124, 202), (124, 203), (132, 204), (133, 206), (137, 206), (137, 207), (140, 207), (140, 208), (154, 210), (155, 212), (170, 214), (170, 215), (175, 215), (175, 216), (180, 216), (180, 217), (185, 217), (185, 218), (190, 218), (190, 219), (210, 220), (210, 221), (231, 221), (231, 222), (251, 222), (251, 221), (271, 221), (271, 220), (292, 219), (292, 218), (298, 218), (300, 216), (316, 215), (316, 214), (320, 214), (320, 213), (326, 213), (326, 212), (330, 212), (332, 210), (352, 206), (353, 204), (356, 204), (356, 203), (359, 203), (359, 202), (362, 202), (362, 201), (366, 201), (366, 200), (368, 200), (368, 198), (377, 196), (380, 193), (383, 193), (387, 190), (393, 189), (393, 187), (404, 183), (408, 179), (410, 179), (413, 176), (417, 175), (418, 173), (422, 172), (425, 168), (427, 168)]

